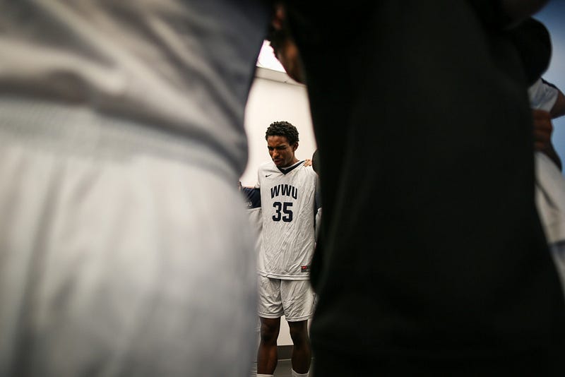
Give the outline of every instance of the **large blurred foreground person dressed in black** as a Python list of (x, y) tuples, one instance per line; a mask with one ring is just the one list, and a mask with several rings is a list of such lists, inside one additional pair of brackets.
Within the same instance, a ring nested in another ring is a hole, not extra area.
[(285, 1), (323, 161), (316, 376), (562, 369), (512, 31), (544, 2)]

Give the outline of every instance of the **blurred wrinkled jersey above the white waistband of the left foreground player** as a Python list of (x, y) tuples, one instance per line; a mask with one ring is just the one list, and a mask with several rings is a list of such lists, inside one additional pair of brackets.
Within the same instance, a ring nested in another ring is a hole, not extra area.
[(237, 181), (247, 158), (244, 106), (268, 16), (259, 4), (2, 1), (0, 92), (87, 104), (198, 140), (213, 157), (190, 160)]

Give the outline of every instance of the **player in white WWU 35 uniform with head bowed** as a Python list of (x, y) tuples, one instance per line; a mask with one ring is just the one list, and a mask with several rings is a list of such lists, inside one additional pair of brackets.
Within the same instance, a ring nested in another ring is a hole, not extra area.
[(257, 356), (258, 376), (272, 376), (277, 364), (280, 317), (290, 328), (292, 376), (307, 376), (311, 352), (307, 323), (314, 294), (309, 283), (314, 251), (316, 173), (295, 156), (298, 131), (286, 121), (266, 131), (271, 162), (258, 169), (261, 189), (263, 244), (258, 256), (261, 343)]

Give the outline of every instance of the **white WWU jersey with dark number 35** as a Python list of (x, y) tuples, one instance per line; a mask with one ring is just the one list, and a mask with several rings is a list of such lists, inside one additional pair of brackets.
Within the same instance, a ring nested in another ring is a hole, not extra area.
[(316, 173), (304, 162), (282, 170), (273, 162), (258, 169), (263, 244), (258, 274), (284, 280), (306, 280), (314, 253)]

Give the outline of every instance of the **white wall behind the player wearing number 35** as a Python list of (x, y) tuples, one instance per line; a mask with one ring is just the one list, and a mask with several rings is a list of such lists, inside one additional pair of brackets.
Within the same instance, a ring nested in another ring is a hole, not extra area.
[[(245, 109), (245, 130), (249, 140), (249, 160), (241, 177), (244, 186), (254, 186), (257, 167), (270, 157), (265, 131), (273, 121), (289, 121), (298, 129), (299, 160), (312, 157), (316, 140), (310, 116), (306, 88), (289, 78), (286, 73), (257, 68), (256, 78)], [(285, 317), (280, 321), (278, 345), (292, 345)]]

